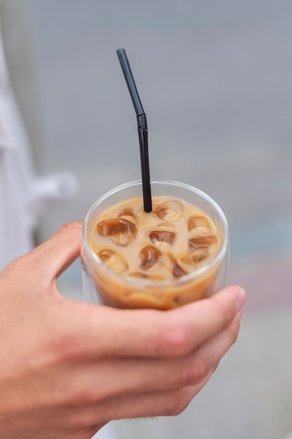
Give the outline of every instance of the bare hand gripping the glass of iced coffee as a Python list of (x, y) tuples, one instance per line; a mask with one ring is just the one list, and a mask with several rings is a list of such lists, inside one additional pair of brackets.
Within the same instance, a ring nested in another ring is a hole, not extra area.
[(181, 413), (237, 339), (236, 286), (172, 311), (62, 297), (80, 255), (65, 224), (0, 273), (0, 431), (6, 439), (89, 439), (111, 419)]

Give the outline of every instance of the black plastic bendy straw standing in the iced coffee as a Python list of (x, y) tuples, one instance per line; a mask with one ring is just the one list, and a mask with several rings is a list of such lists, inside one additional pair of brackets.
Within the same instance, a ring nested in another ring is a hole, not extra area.
[(142, 186), (143, 186), (143, 198), (144, 198), (144, 210), (145, 212), (151, 212), (152, 200), (151, 200), (151, 185), (150, 185), (150, 172), (149, 172), (149, 156), (148, 156), (148, 128), (146, 114), (141, 104), (141, 100), (137, 91), (137, 87), (132, 75), (132, 70), (127, 60), (125, 49), (117, 50), (118, 59), (125, 76), (127, 87), (130, 91), (130, 96), (134, 104), (134, 109), (137, 116), (138, 135), (140, 144), (140, 158), (141, 158), (141, 173), (142, 173)]

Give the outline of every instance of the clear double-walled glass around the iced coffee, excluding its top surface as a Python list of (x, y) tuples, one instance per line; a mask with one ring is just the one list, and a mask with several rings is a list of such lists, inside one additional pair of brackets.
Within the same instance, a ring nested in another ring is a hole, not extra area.
[[(81, 273), (88, 302), (116, 308), (173, 309), (209, 297), (225, 287), (228, 279), (230, 241), (228, 223), (221, 208), (207, 194), (188, 184), (172, 181), (151, 182), (152, 197), (179, 198), (195, 205), (211, 217), (220, 236), (220, 246), (211, 260), (185, 276), (169, 279), (137, 278), (109, 269), (90, 245), (99, 215), (110, 205), (126, 198), (141, 197), (140, 181), (123, 184), (99, 198), (83, 223)], [(154, 198), (153, 198), (154, 199)], [(149, 214), (147, 214), (149, 215)], [(123, 250), (123, 249), (122, 249)]]

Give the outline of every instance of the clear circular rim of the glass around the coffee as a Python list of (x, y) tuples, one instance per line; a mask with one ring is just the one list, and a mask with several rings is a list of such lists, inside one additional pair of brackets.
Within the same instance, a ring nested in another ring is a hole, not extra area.
[[(106, 266), (106, 264), (104, 264), (104, 262), (102, 262), (102, 259), (99, 259), (99, 257), (96, 255), (96, 253), (92, 250), (92, 248), (90, 247), (90, 245), (88, 244), (88, 240), (87, 240), (87, 227), (88, 227), (88, 222), (90, 219), (90, 216), (92, 215), (92, 212), (94, 212), (94, 210), (97, 208), (98, 205), (100, 205), (102, 203), (102, 201), (106, 200), (106, 198), (109, 198), (109, 196), (112, 196), (113, 194), (116, 194), (120, 191), (123, 191), (123, 189), (127, 189), (129, 187), (135, 187), (135, 186), (142, 186), (142, 181), (141, 180), (134, 180), (132, 182), (127, 182), (127, 183), (123, 183), (120, 184), (117, 187), (114, 187), (113, 189), (111, 189), (110, 191), (107, 191), (104, 195), (100, 196), (97, 201), (95, 201), (95, 203), (93, 203), (91, 205), (91, 207), (89, 208), (87, 214), (85, 215), (85, 219), (83, 221), (83, 228), (82, 228), (82, 245), (83, 248), (85, 249), (85, 254), (86, 257), (90, 257), (90, 259), (93, 260), (93, 262), (95, 262), (95, 264), (97, 264), (97, 266), (99, 266), (103, 271), (105, 271), (106, 273), (109, 273), (111, 276), (120, 279), (120, 281), (123, 280), (123, 282), (127, 282), (127, 283), (132, 283), (132, 284), (137, 284), (139, 283), (140, 285), (172, 285), (172, 284), (180, 284), (180, 283), (186, 283), (188, 281), (190, 281), (190, 279), (193, 278), (200, 278), (200, 276), (202, 276), (205, 272), (207, 271), (211, 271), (211, 269), (213, 269), (221, 260), (223, 260), (226, 252), (228, 252), (228, 241), (229, 241), (229, 227), (228, 227), (228, 222), (227, 219), (225, 217), (225, 214), (223, 212), (223, 210), (221, 209), (221, 207), (216, 203), (216, 201), (214, 201), (213, 198), (211, 198), (211, 196), (207, 195), (205, 192), (201, 191), (200, 189), (197, 189), (196, 187), (191, 186), (190, 184), (186, 184), (186, 183), (181, 183), (181, 182), (177, 182), (175, 180), (153, 180), (151, 181), (151, 187), (152, 185), (155, 184), (168, 184), (170, 186), (173, 187), (181, 187), (182, 189), (186, 189), (190, 192), (193, 192), (195, 194), (197, 194), (198, 196), (200, 196), (201, 198), (204, 199), (204, 201), (207, 201), (209, 203), (209, 205), (211, 205), (214, 210), (216, 211), (216, 213), (218, 213), (220, 219), (221, 219), (221, 223), (222, 223), (222, 227), (223, 227), (223, 242), (221, 245), (221, 248), (219, 249), (219, 251), (216, 253), (216, 255), (214, 256), (213, 259), (211, 259), (211, 261), (200, 267), (200, 269), (194, 270), (184, 276), (181, 276), (179, 278), (169, 278), (169, 279), (149, 279), (149, 278), (135, 278), (134, 276), (127, 276), (123, 273), (117, 273), (116, 271), (113, 271), (111, 269), (109, 269), (109, 267)], [(142, 196), (142, 194), (141, 194)], [(131, 197), (129, 197), (131, 198)], [(182, 197), (176, 197), (176, 198), (181, 198), (183, 200)]]

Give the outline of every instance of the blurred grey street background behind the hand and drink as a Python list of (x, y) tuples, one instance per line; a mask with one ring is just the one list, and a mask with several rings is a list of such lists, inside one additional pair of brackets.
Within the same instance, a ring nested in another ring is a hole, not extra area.
[[(78, 193), (39, 241), (140, 179), (137, 122), (116, 49), (147, 114), (151, 178), (214, 198), (230, 224), (230, 283), (248, 299), (237, 344), (186, 412), (116, 421), (118, 438), (281, 439), (292, 430), (292, 3), (4, 0), (8, 67), (40, 175)], [(79, 262), (60, 278), (83, 299)], [(98, 436), (97, 436), (98, 437)]]

